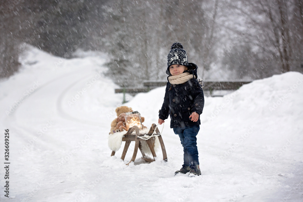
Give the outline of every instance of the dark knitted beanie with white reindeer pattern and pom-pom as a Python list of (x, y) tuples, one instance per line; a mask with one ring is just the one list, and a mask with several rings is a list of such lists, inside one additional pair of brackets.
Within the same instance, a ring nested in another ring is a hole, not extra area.
[(187, 54), (181, 43), (175, 42), (171, 45), (171, 51), (167, 55), (167, 66), (188, 65)]

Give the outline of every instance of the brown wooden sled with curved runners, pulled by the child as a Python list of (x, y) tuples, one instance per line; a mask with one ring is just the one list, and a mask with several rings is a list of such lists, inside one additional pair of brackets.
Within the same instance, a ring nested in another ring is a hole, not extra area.
[[(155, 128), (156, 128), (156, 124), (152, 124), (148, 134), (141, 134), (140, 131), (139, 131), (138, 126), (133, 126), (133, 127), (129, 128), (127, 133), (122, 137), (122, 141), (125, 141), (125, 146), (124, 146), (124, 149), (123, 149), (123, 152), (122, 152), (121, 159), (124, 161), (126, 152), (128, 150), (128, 147), (129, 147), (129, 144), (131, 143), (131, 141), (135, 141), (134, 153), (133, 153), (132, 159), (128, 162), (128, 164), (132, 161), (135, 161), (136, 156), (137, 156), (137, 152), (138, 152), (138, 148), (141, 151), (141, 154), (143, 156), (143, 157), (141, 157), (142, 159), (144, 159), (145, 161), (148, 161), (148, 162), (155, 161), (156, 153), (155, 153), (154, 147), (153, 147), (152, 142), (151, 142), (152, 140), (155, 140), (155, 137), (151, 137), (148, 140), (143, 140), (143, 139), (139, 138), (139, 136), (145, 136), (145, 135), (151, 136), (152, 133), (154, 132)], [(136, 131), (135, 134), (132, 134), (133, 131)], [(159, 139), (161, 149), (162, 149), (163, 160), (167, 161), (165, 146), (164, 146), (163, 139), (160, 135), (160, 132), (159, 132), (158, 128), (156, 128), (156, 134), (159, 135), (158, 139)], [(154, 159), (150, 159), (150, 158), (145, 157), (145, 153), (141, 149), (142, 145), (141, 145), (140, 141), (146, 141), (146, 143), (148, 144), (149, 149), (151, 150), (151, 154), (153, 155)], [(114, 155), (115, 155), (115, 151), (112, 151), (111, 156), (114, 156)], [(126, 165), (128, 165), (128, 164), (126, 164)]]

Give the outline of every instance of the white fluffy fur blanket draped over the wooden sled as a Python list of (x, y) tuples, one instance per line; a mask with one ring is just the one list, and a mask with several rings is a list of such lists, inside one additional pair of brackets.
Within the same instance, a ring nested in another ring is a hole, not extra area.
[[(149, 132), (149, 128), (140, 130), (140, 133), (142, 134), (146, 134)], [(125, 135), (127, 133), (127, 131), (122, 131), (122, 132), (118, 132), (118, 133), (114, 133), (114, 134), (109, 134), (108, 135), (108, 147), (112, 150), (112, 151), (118, 151), (121, 147), (122, 144), (122, 137), (123, 135)], [(135, 131), (133, 132), (135, 133)], [(142, 144), (142, 151), (145, 154), (151, 155), (151, 151), (148, 147), (148, 144), (146, 143), (146, 141), (141, 141)], [(158, 137), (155, 137), (155, 146), (154, 146), (154, 150), (155, 152), (158, 151), (158, 148), (160, 147), (160, 142)]]

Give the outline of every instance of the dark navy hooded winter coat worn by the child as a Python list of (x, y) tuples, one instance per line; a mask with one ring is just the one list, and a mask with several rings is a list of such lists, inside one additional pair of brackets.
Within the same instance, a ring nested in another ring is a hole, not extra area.
[[(195, 69), (190, 69), (188, 72), (197, 75), (197, 68), (195, 65)], [(203, 90), (197, 79), (192, 78), (183, 84), (167, 82), (164, 102), (159, 110), (159, 118), (165, 120), (170, 115), (171, 128), (200, 125), (200, 114), (202, 114), (203, 107)], [(189, 118), (192, 112), (199, 114), (197, 122), (193, 122)]]

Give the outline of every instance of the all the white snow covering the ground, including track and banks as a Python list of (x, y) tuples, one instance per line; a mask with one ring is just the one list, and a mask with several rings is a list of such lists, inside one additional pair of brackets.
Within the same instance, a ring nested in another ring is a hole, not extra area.
[[(21, 58), (22, 70), (0, 81), (0, 200), (303, 200), (302, 74), (275, 75), (224, 97), (206, 97), (197, 141), (202, 175), (188, 177), (174, 176), (183, 157), (169, 118), (162, 133), (168, 162), (158, 152), (155, 162), (145, 163), (138, 152), (126, 166), (134, 143), (125, 161), (123, 145), (110, 157), (108, 132), (123, 96), (105, 78), (104, 61), (65, 60), (32, 48)], [(149, 127), (158, 121), (164, 91), (128, 96), (125, 105)]]

